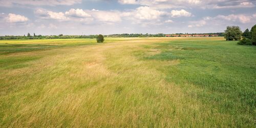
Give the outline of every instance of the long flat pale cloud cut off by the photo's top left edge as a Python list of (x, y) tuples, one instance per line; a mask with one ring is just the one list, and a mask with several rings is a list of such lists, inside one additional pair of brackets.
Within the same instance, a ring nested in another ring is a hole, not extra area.
[(0, 6), (11, 7), (14, 5), (33, 5), (33, 6), (56, 6), (56, 5), (74, 5), (81, 3), (82, 0), (0, 0)]

